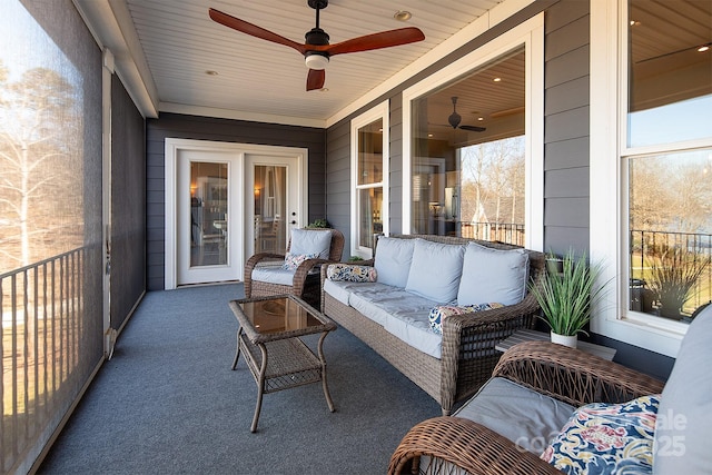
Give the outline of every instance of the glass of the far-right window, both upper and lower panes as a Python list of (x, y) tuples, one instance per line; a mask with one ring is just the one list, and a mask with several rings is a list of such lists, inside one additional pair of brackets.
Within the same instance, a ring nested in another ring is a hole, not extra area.
[(712, 4), (627, 7), (626, 315), (689, 323), (712, 298)]

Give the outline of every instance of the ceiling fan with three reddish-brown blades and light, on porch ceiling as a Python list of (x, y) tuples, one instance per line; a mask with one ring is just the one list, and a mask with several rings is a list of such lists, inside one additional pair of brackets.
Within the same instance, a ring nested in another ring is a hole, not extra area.
[(316, 27), (307, 31), (305, 34), (305, 44), (298, 43), (212, 8), (208, 10), (208, 13), (214, 21), (217, 21), (220, 24), (225, 24), (226, 27), (263, 40), (284, 44), (304, 55), (307, 68), (309, 68), (309, 73), (307, 75), (307, 91), (322, 89), (324, 87), (324, 81), (326, 79), (326, 72), (324, 69), (328, 65), (332, 56), (389, 48), (425, 39), (423, 31), (415, 27), (408, 27), (366, 34), (342, 41), (339, 43), (329, 44), (329, 36), (326, 31), (319, 28), (319, 10), (325, 9), (329, 4), (328, 0), (307, 0), (307, 4), (316, 10)]

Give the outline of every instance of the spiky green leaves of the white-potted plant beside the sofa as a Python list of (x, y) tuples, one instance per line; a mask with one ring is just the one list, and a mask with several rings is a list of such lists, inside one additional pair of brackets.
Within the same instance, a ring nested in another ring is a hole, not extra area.
[(560, 268), (550, 268), (541, 286), (530, 287), (542, 308), (543, 319), (556, 334), (586, 334), (584, 327), (591, 319), (591, 307), (603, 296), (604, 286), (595, 286), (602, 266), (590, 265), (585, 253), (575, 257), (573, 250), (563, 259), (552, 254), (550, 260), (560, 260)]

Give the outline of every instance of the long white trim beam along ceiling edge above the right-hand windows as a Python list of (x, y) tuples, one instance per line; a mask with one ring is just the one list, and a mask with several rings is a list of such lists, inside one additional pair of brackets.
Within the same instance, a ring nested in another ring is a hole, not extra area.
[(478, 19), (459, 30), (457, 33), (453, 34), (451, 38), (443, 41), (417, 60), (413, 61), (409, 66), (392, 76), (390, 79), (382, 82), (366, 95), (326, 119), (326, 127), (332, 127), (334, 123), (354, 113), (359, 108), (378, 99), (380, 96), (402, 85), (418, 72), (424, 71), (439, 59), (455, 51), (457, 48), (465, 46), (474, 38), (477, 38), (479, 34), (506, 20), (517, 11), (523, 10), (533, 2), (534, 0), (505, 0), (497, 4), (495, 8), (482, 14)]

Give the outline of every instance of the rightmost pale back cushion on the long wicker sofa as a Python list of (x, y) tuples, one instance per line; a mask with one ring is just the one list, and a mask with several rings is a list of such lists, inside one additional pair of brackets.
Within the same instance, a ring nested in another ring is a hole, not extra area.
[(528, 268), (530, 255), (524, 249), (503, 250), (467, 244), (457, 305), (518, 304), (526, 295)]

